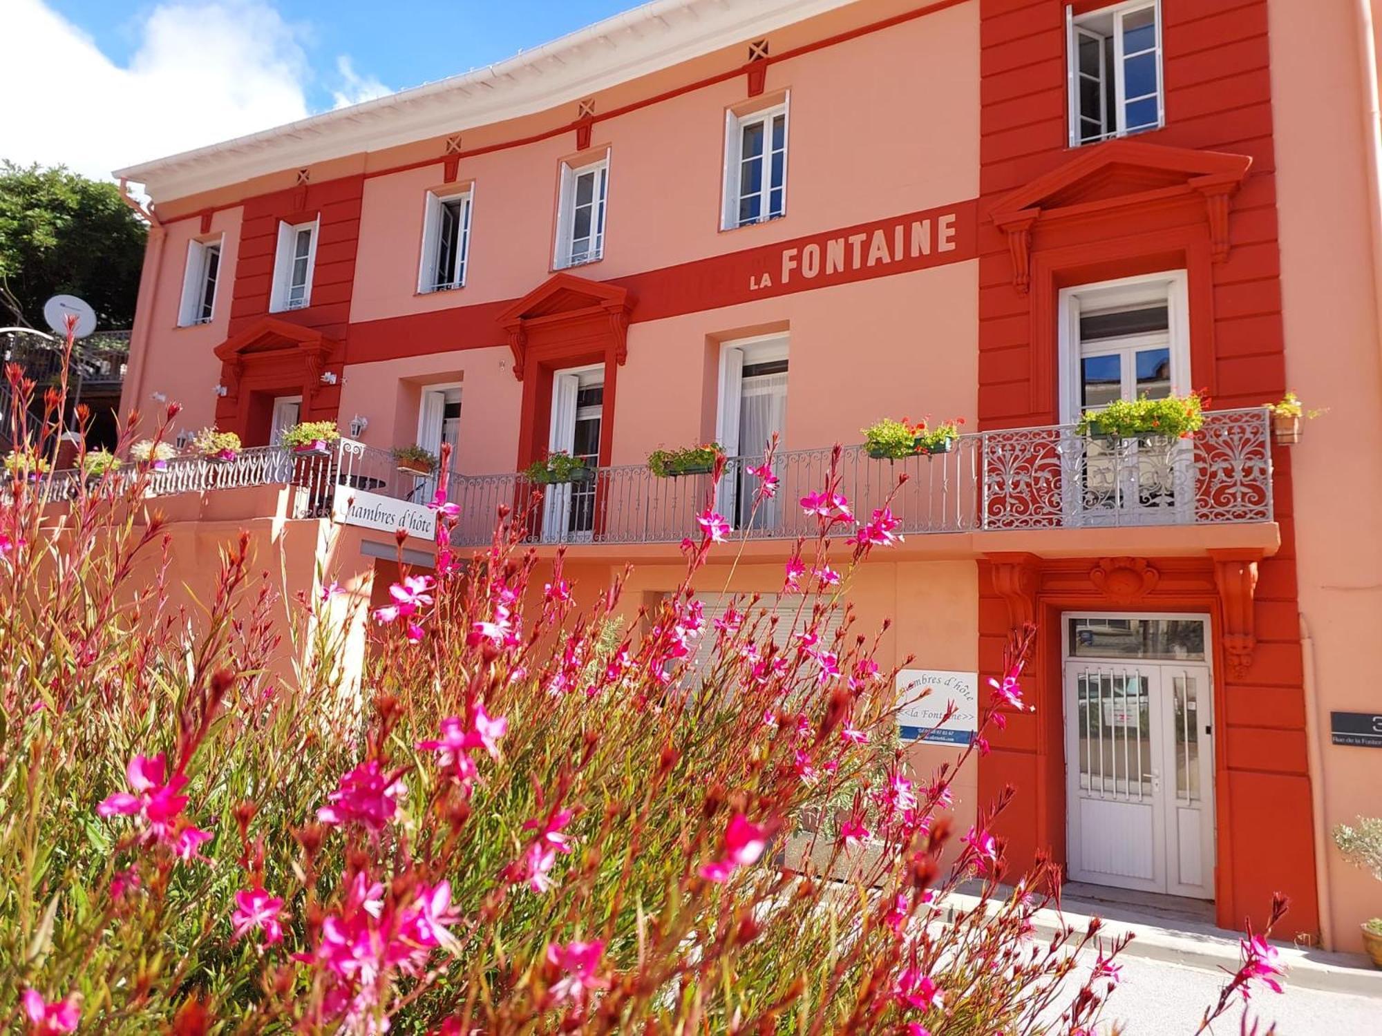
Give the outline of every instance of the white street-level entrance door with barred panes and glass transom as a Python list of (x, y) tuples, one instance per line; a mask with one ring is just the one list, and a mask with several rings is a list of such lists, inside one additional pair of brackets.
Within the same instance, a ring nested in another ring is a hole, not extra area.
[[(1066, 626), (1070, 879), (1212, 899), (1206, 623), (1088, 616)], [(1200, 658), (1158, 658), (1176, 653)]]

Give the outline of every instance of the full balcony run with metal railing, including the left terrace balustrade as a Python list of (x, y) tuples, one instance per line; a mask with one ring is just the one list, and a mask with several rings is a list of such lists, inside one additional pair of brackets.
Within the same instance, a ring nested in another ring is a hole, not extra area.
[[(757, 478), (746, 467), (761, 459), (731, 457), (713, 506), (750, 540), (813, 537), (815, 518), (796, 501), (826, 485), (832, 454), (829, 449), (778, 453), (773, 463), (777, 496), (757, 504)], [(949, 453), (897, 461), (846, 446), (836, 471), (839, 492), (857, 515), (868, 517), (891, 493), (889, 506), (904, 536), (985, 533), (991, 550), (1007, 548), (998, 533), (1202, 529), (1273, 521), (1271, 414), (1266, 407), (1206, 413), (1190, 439), (1111, 441), (1081, 435), (1074, 425), (1048, 425), (962, 435)], [(138, 474), (127, 466), (115, 478), (123, 482)], [(522, 539), (531, 544), (677, 544), (698, 532), (695, 517), (713, 492), (708, 474), (656, 478), (643, 464), (598, 468), (589, 482), (556, 486), (533, 485), (522, 474), (451, 472), (439, 479), (401, 471), (390, 452), (351, 439), (321, 457), (276, 446), (245, 449), (227, 463), (176, 457), (144, 477), (144, 493), (151, 497), (286, 485), (293, 490), (292, 518), (330, 517), (333, 500), (343, 493), (426, 504), (444, 481), (448, 497), (460, 507), (452, 536), (456, 547), (488, 544), (500, 507), (524, 515)], [(75, 496), (79, 478), (72, 471), (55, 472), (50, 493)], [(543, 499), (535, 503), (539, 490)], [(851, 530), (837, 528), (840, 535)]]

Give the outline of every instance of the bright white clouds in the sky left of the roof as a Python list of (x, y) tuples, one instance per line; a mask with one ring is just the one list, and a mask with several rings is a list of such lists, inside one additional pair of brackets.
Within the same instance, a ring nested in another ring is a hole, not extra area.
[[(134, 28), (122, 68), (41, 0), (0, 0), (0, 157), (104, 178), (310, 111), (305, 29), (265, 0), (173, 0)], [(348, 58), (337, 73), (337, 105), (387, 93)]]

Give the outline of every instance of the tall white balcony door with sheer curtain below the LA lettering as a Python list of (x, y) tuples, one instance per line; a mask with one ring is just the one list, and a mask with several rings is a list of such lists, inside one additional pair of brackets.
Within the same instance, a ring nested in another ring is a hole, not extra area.
[[(778, 452), (786, 431), (788, 340), (784, 334), (730, 341), (720, 347), (720, 398), (716, 442), (731, 460), (720, 483), (721, 514), (735, 528), (771, 528), (781, 514), (781, 501), (768, 499), (753, 510), (757, 477), (749, 467), (763, 463), (775, 435)], [(752, 521), (750, 521), (752, 518)]]

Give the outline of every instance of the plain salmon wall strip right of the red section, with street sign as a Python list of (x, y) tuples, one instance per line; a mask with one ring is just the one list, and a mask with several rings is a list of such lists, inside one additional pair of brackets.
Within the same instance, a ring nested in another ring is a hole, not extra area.
[[(1281, 200), (1287, 384), (1328, 413), (1291, 449), (1300, 616), (1313, 641), (1323, 851), (1332, 942), (1359, 949), (1359, 924), (1382, 913), (1382, 884), (1347, 866), (1328, 837), (1378, 815), (1375, 749), (1329, 743), (1329, 711), (1378, 711), (1363, 671), (1382, 629), (1382, 544), (1359, 535), (1382, 511), (1382, 363), (1368, 196), (1368, 113), (1357, 4), (1271, 0), (1273, 122)], [(1331, 55), (1323, 59), (1321, 55)], [(1331, 117), (1321, 119), (1328, 111)], [(1367, 215), (1365, 215), (1367, 214)], [(1341, 497), (1342, 492), (1342, 497)], [(1346, 506), (1341, 507), (1341, 500)]]

